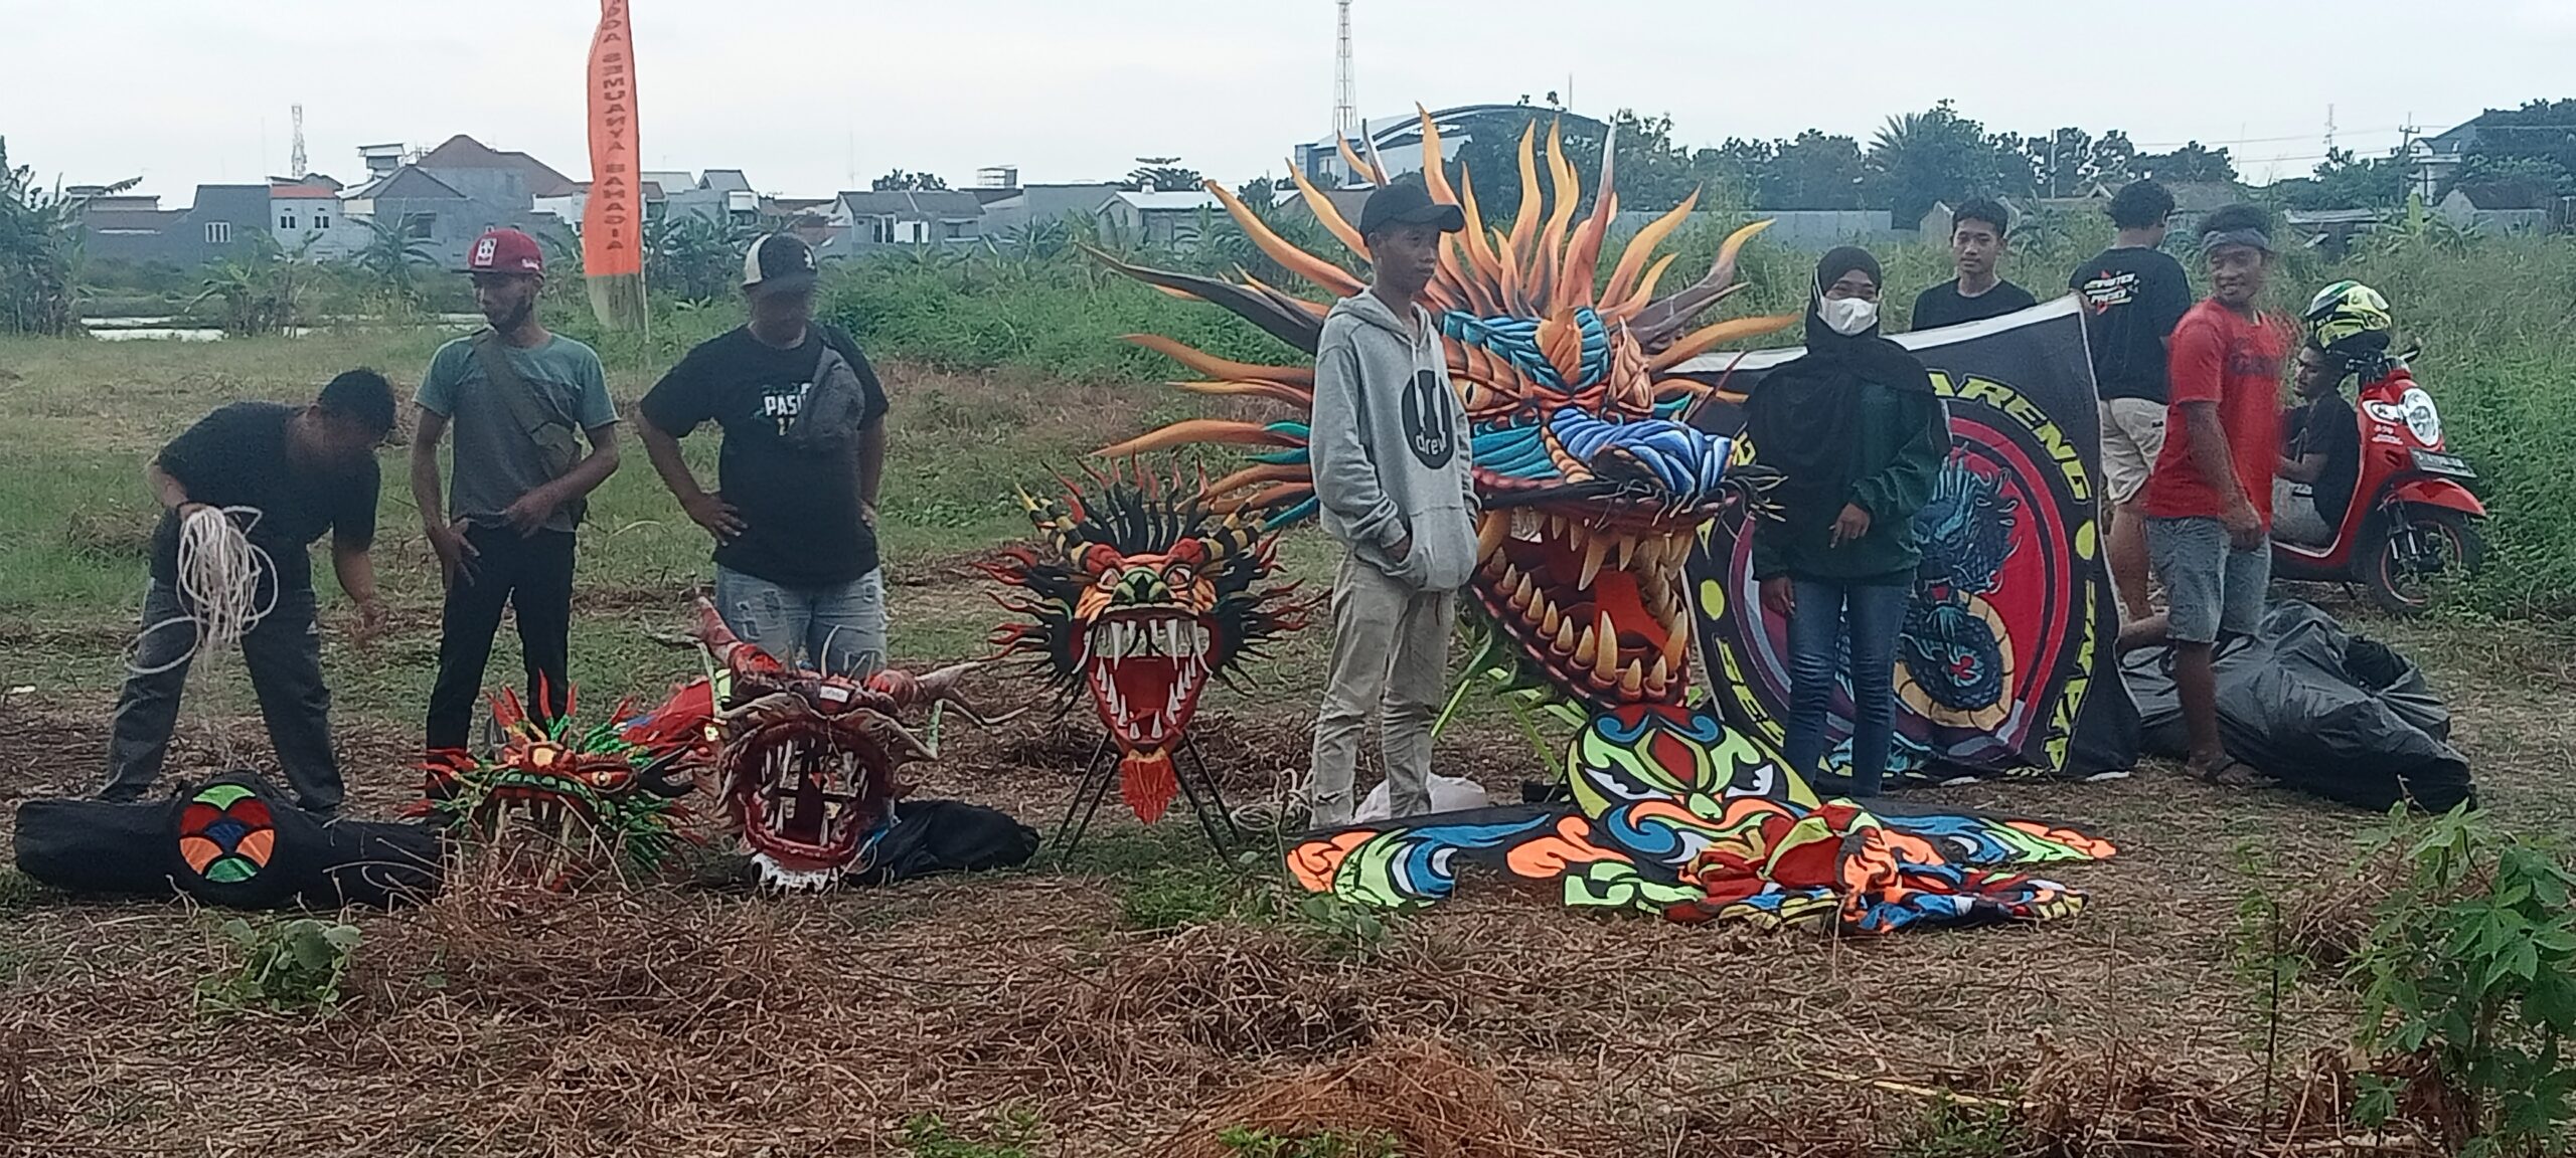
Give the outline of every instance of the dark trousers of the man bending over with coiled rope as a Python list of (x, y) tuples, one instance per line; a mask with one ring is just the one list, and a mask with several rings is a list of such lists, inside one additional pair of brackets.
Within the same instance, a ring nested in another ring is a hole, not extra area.
[[(144, 592), (144, 628), (185, 612), (175, 587), (155, 579)], [(108, 723), (108, 785), (98, 790), (100, 800), (142, 798), (160, 780), (193, 659), (180, 656), (193, 643), (196, 630), (173, 623), (149, 630), (134, 646), (134, 666), (155, 669), (173, 661), (175, 666), (126, 674), (116, 718)], [(314, 623), (312, 587), (278, 592), (278, 605), (242, 636), (242, 666), (250, 669), (250, 687), (260, 695), (268, 744), (278, 749), (278, 772), (296, 790), (296, 803), (317, 813), (340, 808), (340, 764), (330, 751), (330, 690), (322, 687), (322, 633)]]

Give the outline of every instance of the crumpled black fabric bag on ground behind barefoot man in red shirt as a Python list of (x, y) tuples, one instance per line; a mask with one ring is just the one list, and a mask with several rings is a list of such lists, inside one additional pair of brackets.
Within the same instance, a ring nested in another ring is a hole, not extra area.
[[(2146, 721), (2146, 749), (2182, 759), (2190, 736), (2166, 648), (2120, 664)], [(2264, 612), (2249, 641), (2218, 654), (2218, 733), (2228, 754), (2285, 787), (2357, 808), (2445, 813), (2476, 805), (2468, 759), (2450, 746), (2450, 708), (2406, 656), (2344, 630), (2306, 602)]]

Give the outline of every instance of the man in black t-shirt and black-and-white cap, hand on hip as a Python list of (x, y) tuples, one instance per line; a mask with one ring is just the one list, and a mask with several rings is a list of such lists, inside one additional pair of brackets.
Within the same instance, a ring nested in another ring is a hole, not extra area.
[[(886, 664), (876, 486), (886, 389), (850, 335), (814, 322), (814, 250), (770, 234), (742, 262), (750, 324), (701, 342), (639, 407), (636, 435), (716, 538), (716, 612), (781, 661), (850, 677)], [(716, 422), (716, 489), (680, 437)]]

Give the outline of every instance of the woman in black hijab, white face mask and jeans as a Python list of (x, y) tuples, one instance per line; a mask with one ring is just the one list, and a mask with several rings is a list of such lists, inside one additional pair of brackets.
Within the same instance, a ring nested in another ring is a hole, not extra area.
[[(1950, 455), (1932, 376), (1878, 335), (1878, 260), (1842, 247), (1816, 265), (1806, 355), (1749, 401), (1754, 461), (1783, 473), (1754, 525), (1762, 610), (1788, 618), (1788, 764), (1826, 795), (1878, 795), (1896, 726), (1896, 636), (1914, 594), (1914, 515)], [(1826, 715), (1850, 628), (1852, 775), (1826, 775)]]

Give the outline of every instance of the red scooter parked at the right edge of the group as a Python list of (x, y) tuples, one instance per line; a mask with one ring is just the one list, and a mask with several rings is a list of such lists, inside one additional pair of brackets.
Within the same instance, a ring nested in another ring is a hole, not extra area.
[(2486, 504), (2468, 492), (2468, 461), (2442, 448), (2442, 414), (2403, 360), (2362, 386), (2362, 466), (2334, 543), (2272, 540), (2272, 576), (2360, 584), (2391, 615), (2419, 615), (2450, 574), (2476, 571), (2486, 540), (2473, 520)]

